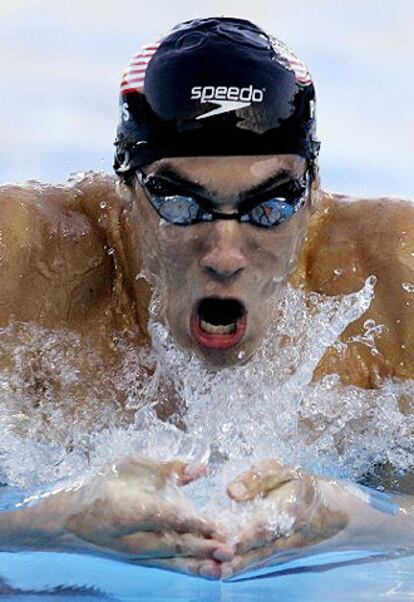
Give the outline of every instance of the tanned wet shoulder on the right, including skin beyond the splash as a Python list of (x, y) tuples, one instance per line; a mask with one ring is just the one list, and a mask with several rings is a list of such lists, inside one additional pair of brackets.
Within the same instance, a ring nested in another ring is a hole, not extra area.
[[(341, 336), (346, 351), (338, 356), (331, 349), (318, 377), (336, 372), (344, 382), (364, 387), (376, 386), (378, 377), (414, 378), (414, 205), (340, 195), (326, 201), (311, 230), (307, 287), (342, 295), (360, 290), (374, 276), (375, 288), (367, 311)], [(375, 355), (364, 338), (368, 320), (380, 326)]]

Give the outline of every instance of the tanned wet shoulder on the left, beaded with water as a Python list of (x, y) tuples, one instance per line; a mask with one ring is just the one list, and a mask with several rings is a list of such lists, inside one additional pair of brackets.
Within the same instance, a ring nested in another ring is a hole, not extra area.
[(97, 188), (112, 189), (99, 177), (95, 184), (78, 179), (0, 188), (2, 322), (9, 315), (72, 319), (71, 312), (87, 313), (110, 290), (105, 233), (85, 210), (88, 199), (97, 196), (91, 189)]

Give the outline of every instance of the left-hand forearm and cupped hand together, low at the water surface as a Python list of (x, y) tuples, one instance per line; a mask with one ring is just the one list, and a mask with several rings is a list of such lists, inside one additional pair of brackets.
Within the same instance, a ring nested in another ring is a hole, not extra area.
[[(87, 553), (127, 562), (216, 575), (220, 559), (234, 550), (221, 526), (198, 516), (177, 489), (204, 473), (204, 466), (158, 463), (129, 456), (91, 478), (32, 496), (0, 512), (0, 551)], [(221, 574), (221, 573), (220, 573)]]

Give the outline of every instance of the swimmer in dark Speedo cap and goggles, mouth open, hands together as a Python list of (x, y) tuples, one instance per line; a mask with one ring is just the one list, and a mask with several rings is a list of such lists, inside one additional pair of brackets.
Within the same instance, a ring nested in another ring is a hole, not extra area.
[[(346, 351), (328, 349), (314, 378), (336, 373), (363, 388), (414, 378), (414, 206), (321, 189), (314, 85), (279, 40), (220, 17), (145, 46), (122, 80), (115, 149), (115, 180), (90, 174), (64, 187), (0, 190), (1, 324), (88, 336), (112, 366), (122, 362), (114, 333), (151, 344), (149, 302), (161, 285), (177, 344), (219, 370), (255, 354), (288, 282), (343, 295), (374, 275), (373, 302), (342, 335)], [(384, 327), (376, 355), (360, 342), (368, 319)], [(85, 365), (85, 387), (90, 378)], [(171, 392), (160, 417), (175, 403)], [(276, 553), (412, 545), (410, 495), (384, 507), (365, 489), (277, 458), (229, 483), (235, 503), (263, 500), (231, 540), (186, 505), (185, 485), (205, 470), (123, 459), (0, 514), (0, 549), (86, 551), (226, 578)], [(293, 517), (285, 531), (269, 527), (269, 508)]]

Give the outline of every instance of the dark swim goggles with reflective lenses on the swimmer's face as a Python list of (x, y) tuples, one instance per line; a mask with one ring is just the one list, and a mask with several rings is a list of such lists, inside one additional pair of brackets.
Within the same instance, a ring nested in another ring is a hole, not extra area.
[(242, 200), (233, 213), (221, 213), (211, 208), (208, 199), (186, 192), (180, 184), (154, 174), (146, 175), (140, 170), (136, 171), (136, 177), (158, 215), (177, 226), (236, 219), (260, 228), (273, 228), (303, 207), (310, 187), (309, 172), (306, 171), (300, 179), (278, 184), (273, 192)]

